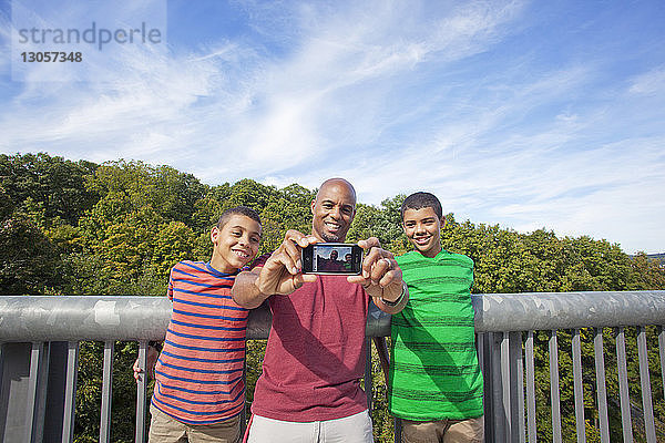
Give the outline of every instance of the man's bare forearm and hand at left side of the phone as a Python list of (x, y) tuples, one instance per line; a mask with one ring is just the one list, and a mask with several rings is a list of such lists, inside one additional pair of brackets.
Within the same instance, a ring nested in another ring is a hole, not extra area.
[(235, 302), (244, 308), (257, 308), (274, 293), (288, 295), (305, 281), (316, 281), (315, 275), (303, 275), (300, 259), (301, 248), (316, 241), (313, 236), (288, 230), (263, 267), (238, 274), (231, 290)]

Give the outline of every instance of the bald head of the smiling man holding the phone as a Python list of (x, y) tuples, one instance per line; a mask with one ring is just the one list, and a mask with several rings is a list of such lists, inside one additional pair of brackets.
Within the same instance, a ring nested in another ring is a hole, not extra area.
[(345, 182), (326, 182), (311, 202), (311, 234), (321, 241), (344, 241), (356, 215), (356, 194)]

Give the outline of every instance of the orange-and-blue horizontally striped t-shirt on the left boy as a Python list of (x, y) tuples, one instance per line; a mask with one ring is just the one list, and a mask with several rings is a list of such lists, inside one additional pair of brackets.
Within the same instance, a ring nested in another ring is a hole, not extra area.
[(245, 406), (249, 311), (231, 297), (236, 275), (203, 261), (181, 261), (171, 269), (173, 311), (155, 367), (152, 404), (181, 422), (217, 423)]

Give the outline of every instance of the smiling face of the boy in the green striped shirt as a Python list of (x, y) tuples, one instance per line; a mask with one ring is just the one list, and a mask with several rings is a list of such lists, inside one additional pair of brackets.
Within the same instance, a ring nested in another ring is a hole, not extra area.
[(426, 257), (434, 257), (441, 251), (441, 228), (444, 225), (446, 218), (437, 217), (431, 207), (407, 209), (402, 219), (407, 238)]

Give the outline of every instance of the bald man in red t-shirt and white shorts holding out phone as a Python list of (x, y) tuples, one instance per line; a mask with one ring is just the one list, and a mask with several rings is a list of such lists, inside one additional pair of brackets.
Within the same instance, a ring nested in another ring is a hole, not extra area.
[(286, 233), (282, 245), (252, 271), (238, 275), (234, 300), (268, 300), (273, 324), (256, 383), (249, 442), (372, 442), (360, 389), (370, 297), (399, 312), (408, 289), (392, 254), (377, 238), (358, 241), (367, 255), (359, 276), (301, 274), (301, 248), (346, 239), (356, 214), (350, 183), (331, 178), (311, 202), (311, 234)]

